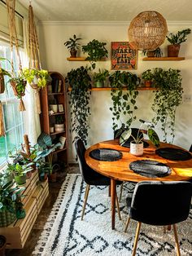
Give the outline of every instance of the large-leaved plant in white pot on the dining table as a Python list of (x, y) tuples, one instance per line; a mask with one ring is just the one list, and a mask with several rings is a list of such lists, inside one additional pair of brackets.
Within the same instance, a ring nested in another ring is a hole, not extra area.
[[(143, 154), (143, 133), (148, 135), (151, 143), (155, 145), (155, 147), (159, 147), (159, 136), (156, 134), (154, 125), (150, 121), (144, 121), (140, 119), (142, 122), (140, 128), (137, 131), (137, 136), (134, 137), (132, 134), (132, 129), (129, 128), (124, 130), (124, 132), (120, 135), (120, 146), (122, 146), (130, 137), (133, 138), (133, 141), (130, 143), (130, 153), (135, 156), (142, 156)], [(146, 126), (146, 130), (142, 129), (142, 126)]]

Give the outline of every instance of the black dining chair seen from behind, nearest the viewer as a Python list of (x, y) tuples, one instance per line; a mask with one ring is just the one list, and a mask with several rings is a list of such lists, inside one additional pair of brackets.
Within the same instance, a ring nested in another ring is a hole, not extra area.
[(142, 181), (135, 186), (133, 197), (127, 198), (129, 218), (137, 221), (137, 231), (133, 244), (136, 254), (137, 241), (142, 223), (155, 226), (173, 226), (177, 255), (180, 254), (176, 223), (184, 221), (190, 212), (192, 184), (186, 181), (160, 182)]

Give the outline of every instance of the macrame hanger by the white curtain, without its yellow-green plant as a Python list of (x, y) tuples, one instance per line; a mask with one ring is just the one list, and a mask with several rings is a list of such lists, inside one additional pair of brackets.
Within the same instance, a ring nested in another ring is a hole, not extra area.
[[(29, 1), (28, 7), (28, 55), (29, 55), (29, 68), (41, 69), (39, 43), (37, 38), (37, 29), (33, 14), (33, 7)], [(41, 113), (41, 105), (39, 99), (39, 90), (37, 86), (33, 86), (35, 90), (35, 100), (37, 105), (37, 113)]]

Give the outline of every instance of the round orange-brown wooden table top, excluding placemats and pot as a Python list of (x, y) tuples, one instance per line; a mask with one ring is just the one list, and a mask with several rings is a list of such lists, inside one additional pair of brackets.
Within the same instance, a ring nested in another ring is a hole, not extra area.
[[(147, 140), (150, 144), (148, 148), (144, 148), (143, 155), (141, 157), (133, 156), (129, 153), (129, 148), (121, 147), (119, 144), (119, 139), (107, 140), (100, 143), (96, 143), (90, 148), (88, 148), (85, 152), (85, 161), (88, 166), (92, 169), (96, 170), (98, 173), (103, 174), (111, 179), (118, 179), (122, 181), (133, 181), (140, 182), (143, 180), (164, 180), (164, 181), (178, 181), (178, 180), (187, 180), (192, 177), (192, 158), (188, 161), (171, 161), (168, 159), (164, 159), (163, 157), (159, 157), (155, 153), (155, 146), (152, 145), (150, 141)], [(179, 148), (175, 145), (168, 143), (160, 143), (159, 148)], [(89, 152), (96, 148), (111, 148), (119, 150), (123, 153), (123, 157), (118, 161), (98, 161), (89, 157)], [(140, 174), (136, 174), (133, 170), (129, 169), (129, 164), (132, 161), (137, 160), (153, 160), (159, 161), (167, 166), (169, 166), (172, 170), (171, 174), (165, 176), (163, 178), (150, 178), (145, 177)]]

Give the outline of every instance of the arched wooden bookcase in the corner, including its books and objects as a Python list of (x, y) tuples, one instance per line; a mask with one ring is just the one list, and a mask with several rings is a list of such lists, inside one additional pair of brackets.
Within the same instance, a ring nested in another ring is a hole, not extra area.
[(41, 131), (50, 135), (54, 143), (62, 143), (54, 152), (53, 162), (68, 166), (67, 91), (60, 73), (50, 72), (50, 77), (50, 84), (40, 91)]

